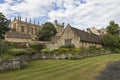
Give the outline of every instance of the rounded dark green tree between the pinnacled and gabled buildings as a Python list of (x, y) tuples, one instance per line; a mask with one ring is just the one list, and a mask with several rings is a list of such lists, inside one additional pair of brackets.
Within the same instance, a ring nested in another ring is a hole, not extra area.
[(38, 32), (38, 38), (40, 41), (50, 41), (52, 36), (57, 33), (56, 28), (50, 22), (46, 22), (42, 25), (42, 29)]

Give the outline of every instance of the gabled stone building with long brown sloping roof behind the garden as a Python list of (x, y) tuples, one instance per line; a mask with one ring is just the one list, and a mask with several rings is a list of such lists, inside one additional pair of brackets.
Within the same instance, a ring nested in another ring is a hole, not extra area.
[(98, 35), (71, 27), (70, 24), (67, 24), (62, 34), (59, 36), (56, 35), (52, 42), (48, 45), (49, 49), (71, 45), (74, 45), (76, 48), (89, 46), (102, 47), (102, 41)]

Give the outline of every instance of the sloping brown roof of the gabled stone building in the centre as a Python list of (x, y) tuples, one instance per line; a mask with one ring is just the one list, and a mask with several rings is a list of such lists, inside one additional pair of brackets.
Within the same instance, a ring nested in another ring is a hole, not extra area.
[(71, 27), (71, 29), (76, 35), (80, 36), (80, 41), (82, 42), (90, 42), (90, 43), (98, 43), (98, 44), (102, 43), (100, 37), (95, 34), (90, 34), (88, 32), (73, 27)]

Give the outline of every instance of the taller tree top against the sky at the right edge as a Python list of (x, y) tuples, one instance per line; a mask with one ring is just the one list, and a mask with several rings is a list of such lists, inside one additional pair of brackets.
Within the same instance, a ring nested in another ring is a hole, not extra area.
[(119, 35), (120, 27), (114, 21), (110, 21), (110, 25), (107, 27), (107, 33), (112, 35)]

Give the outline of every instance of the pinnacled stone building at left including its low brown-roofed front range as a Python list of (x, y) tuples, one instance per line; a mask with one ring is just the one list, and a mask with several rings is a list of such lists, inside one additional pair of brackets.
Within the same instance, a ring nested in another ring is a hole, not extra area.
[(41, 29), (41, 27), (31, 23), (31, 19), (27, 22), (27, 18), (25, 21), (21, 20), (21, 17), (18, 19), (14, 18), (14, 20), (10, 24), (10, 31), (6, 33), (5, 40), (10, 42), (29, 42), (32, 40), (36, 40), (37, 32)]

